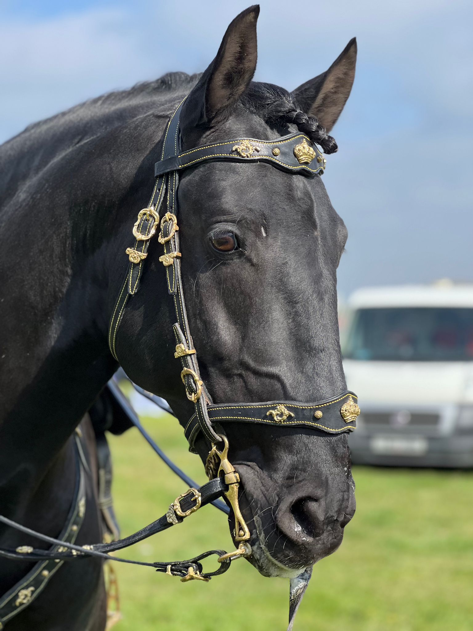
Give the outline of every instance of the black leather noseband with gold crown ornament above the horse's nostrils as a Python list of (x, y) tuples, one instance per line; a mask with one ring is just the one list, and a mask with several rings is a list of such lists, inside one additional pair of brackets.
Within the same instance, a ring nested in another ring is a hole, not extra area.
[[(359, 415), (358, 397), (343, 392), (335, 398), (318, 403), (266, 401), (266, 403), (234, 403), (209, 405), (212, 423), (269, 423), (269, 425), (307, 426), (327, 433), (353, 431)], [(194, 415), (185, 428), (191, 448), (199, 432), (199, 420)]]

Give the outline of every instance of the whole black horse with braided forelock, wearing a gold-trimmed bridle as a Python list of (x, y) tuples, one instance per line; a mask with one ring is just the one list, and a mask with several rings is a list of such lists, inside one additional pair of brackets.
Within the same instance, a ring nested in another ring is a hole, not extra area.
[[(233, 20), (202, 75), (166, 74), (96, 98), (1, 147), (0, 512), (37, 531), (57, 536), (67, 520), (76, 484), (71, 436), (117, 370), (108, 324), (132, 223), (178, 103), (189, 95), (184, 149), (298, 130), (325, 153), (337, 148), (327, 131), (353, 85), (355, 40), (289, 93), (252, 82), (258, 14), (255, 6)], [(304, 402), (343, 391), (336, 269), (347, 232), (320, 177), (266, 163), (206, 163), (182, 175), (178, 201), (184, 293), (213, 400)], [(169, 401), (184, 425), (192, 404), (173, 358), (175, 320), (157, 245), (149, 245), (116, 352), (129, 377)], [(264, 575), (293, 577), (336, 550), (354, 514), (346, 433), (225, 429), (242, 480), (250, 562)], [(83, 443), (89, 464), (91, 445)], [(205, 461), (204, 437), (196, 449)], [(91, 481), (86, 495), (79, 544), (102, 536)], [(47, 547), (0, 529), (0, 546), (25, 543)], [(3, 561), (0, 593), (31, 567)], [(61, 565), (8, 628), (102, 630), (103, 596), (99, 561)]]

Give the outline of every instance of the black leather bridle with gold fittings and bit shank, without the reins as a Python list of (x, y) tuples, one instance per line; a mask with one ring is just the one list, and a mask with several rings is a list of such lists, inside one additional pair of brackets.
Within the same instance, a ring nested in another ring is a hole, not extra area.
[[(182, 288), (180, 269), (182, 254), (177, 223), (179, 174), (185, 168), (196, 167), (204, 162), (230, 161), (266, 162), (286, 172), (314, 177), (324, 172), (325, 158), (317, 146), (312, 146), (308, 136), (301, 133), (289, 134), (274, 141), (235, 138), (181, 151), (182, 137), (179, 119), (184, 102), (185, 98), (180, 102), (166, 126), (161, 160), (155, 164), (155, 188), (148, 207), (138, 213), (133, 228), (134, 245), (126, 250), (129, 268), (110, 321), (108, 343), (110, 351), (118, 360), (116, 341), (120, 322), (129, 298), (139, 289), (143, 264), (148, 256), (149, 242), (159, 230), (158, 241), (163, 245), (163, 254), (159, 260), (166, 271), (168, 293), (173, 299), (177, 320), (173, 326), (176, 342), (174, 357), (182, 363), (181, 379), (184, 382), (187, 398), (194, 403), (195, 408), (194, 415), (185, 427), (185, 437), (189, 441), (191, 451), (194, 451), (196, 437), (200, 432), (211, 445), (206, 472), (209, 477), (224, 473), (225, 481), (229, 485), (229, 490), (225, 495), (230, 501), (235, 516), (235, 541), (240, 543), (238, 555), (245, 556), (250, 553), (250, 550), (243, 542), (250, 539), (250, 533), (238, 506), (240, 479), (233, 466), (228, 463), (228, 442), (221, 430), (221, 425), (227, 422), (269, 423), (312, 427), (327, 433), (341, 433), (355, 428), (359, 408), (356, 404), (356, 395), (349, 391), (341, 392), (331, 399), (317, 401), (317, 403), (266, 401), (264, 403), (213, 404), (200, 376), (197, 351), (189, 330)], [(166, 213), (160, 223), (160, 212), (163, 206), (166, 208)], [(219, 447), (224, 440), (225, 447)], [(225, 454), (225, 467), (222, 466), (223, 454)]]

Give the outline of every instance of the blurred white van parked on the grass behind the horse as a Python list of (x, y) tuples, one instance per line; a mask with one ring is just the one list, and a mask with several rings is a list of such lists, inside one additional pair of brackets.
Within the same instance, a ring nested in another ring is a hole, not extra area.
[(342, 353), (354, 463), (473, 467), (473, 285), (358, 290)]

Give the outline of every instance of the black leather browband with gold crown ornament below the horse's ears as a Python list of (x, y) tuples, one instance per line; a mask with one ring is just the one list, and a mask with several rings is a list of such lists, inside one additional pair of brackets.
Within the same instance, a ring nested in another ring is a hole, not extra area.
[(231, 162), (269, 162), (284, 171), (305, 175), (324, 173), (325, 158), (308, 136), (296, 133), (276, 140), (237, 138), (224, 143), (208, 144), (155, 164), (155, 176), (171, 171), (194, 167), (203, 160), (230, 160)]

